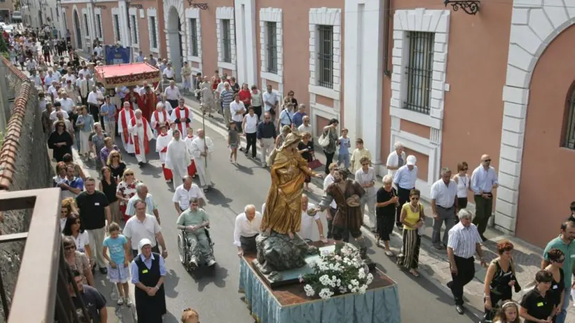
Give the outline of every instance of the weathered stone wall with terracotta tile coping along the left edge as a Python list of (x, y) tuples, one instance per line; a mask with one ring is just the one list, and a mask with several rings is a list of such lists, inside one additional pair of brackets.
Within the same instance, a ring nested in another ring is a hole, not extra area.
[[(5, 82), (0, 86), (3, 90), (0, 94), (5, 95), (6, 90), (16, 94), (14, 102), (10, 103), (8, 126), (6, 129), (0, 129), (3, 132), (0, 150), (0, 194), (4, 191), (52, 187), (54, 171), (38, 113), (37, 90), (25, 74), (4, 58), (0, 58), (0, 75), (0, 82)], [(0, 213), (0, 234), (28, 231), (31, 215), (31, 209)], [(9, 301), (16, 285), (24, 244), (0, 244), (0, 274)], [(2, 312), (0, 306), (0, 322), (4, 322)]]

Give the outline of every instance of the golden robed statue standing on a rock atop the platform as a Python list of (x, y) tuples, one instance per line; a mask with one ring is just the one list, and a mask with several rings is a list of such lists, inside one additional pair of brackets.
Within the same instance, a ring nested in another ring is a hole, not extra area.
[(321, 178), (308, 167), (308, 161), (301, 157), (297, 144), (301, 136), (288, 134), (280, 148), (269, 156), (271, 187), (265, 202), (261, 230), (267, 235), (274, 230), (289, 235), (301, 229), (301, 194), (308, 176)]

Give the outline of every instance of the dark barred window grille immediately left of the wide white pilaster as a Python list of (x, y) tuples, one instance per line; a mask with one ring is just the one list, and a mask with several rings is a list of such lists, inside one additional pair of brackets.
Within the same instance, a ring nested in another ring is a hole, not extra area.
[(317, 26), (317, 85), (333, 88), (333, 26)]

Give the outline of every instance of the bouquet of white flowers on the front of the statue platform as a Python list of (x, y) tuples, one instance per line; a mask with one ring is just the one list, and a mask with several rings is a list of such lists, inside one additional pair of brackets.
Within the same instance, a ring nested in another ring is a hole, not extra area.
[(373, 275), (361, 259), (359, 249), (346, 243), (336, 244), (333, 252), (323, 251), (320, 261), (310, 265), (313, 273), (299, 277), (305, 283), (308, 297), (330, 299), (334, 295), (364, 294), (373, 281)]

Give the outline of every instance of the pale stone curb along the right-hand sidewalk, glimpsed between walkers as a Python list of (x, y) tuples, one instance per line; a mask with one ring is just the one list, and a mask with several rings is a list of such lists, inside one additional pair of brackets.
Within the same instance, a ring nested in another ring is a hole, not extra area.
[[(195, 100), (190, 99), (189, 97), (184, 96), (184, 98), (186, 100), (194, 102), (194, 104), (188, 104), (188, 102), (186, 102), (186, 103), (187, 103), (188, 107), (190, 107), (192, 110), (194, 110), (194, 113), (198, 113), (199, 116), (202, 116), (202, 111), (198, 107), (195, 107), (199, 103), (196, 102)], [(211, 118), (205, 118), (205, 125), (207, 127), (211, 127), (212, 129), (214, 129), (214, 131), (218, 132), (218, 134), (220, 134), (222, 136), (227, 136), (226, 127), (224, 127), (221, 123), (216, 123)], [(240, 146), (242, 148), (246, 148), (246, 144), (244, 143), (244, 141), (240, 142)], [(323, 190), (323, 187), (320, 187), (320, 185), (318, 185), (317, 183), (315, 183), (315, 184), (318, 188)], [(363, 228), (361, 228), (361, 231), (363, 232), (363, 235), (365, 237), (368, 237), (372, 242), (375, 242), (375, 239), (376, 239), (375, 235), (371, 232), (370, 228), (365, 223), (363, 224)], [(400, 240), (403, 239), (402, 235), (395, 230), (393, 230), (393, 235)], [(424, 236), (423, 239), (431, 241), (431, 239), (427, 236)], [(423, 247), (423, 243), (422, 243), (422, 247)], [(433, 252), (432, 250), (427, 249), (427, 248), (425, 249), (425, 251), (427, 251), (427, 253)], [(430, 283), (432, 283), (432, 285), (437, 287), (439, 290), (441, 290), (442, 292), (445, 292), (448, 295), (451, 294), (451, 290), (447, 287), (446, 283), (443, 283), (442, 281), (439, 281), (436, 278), (434, 278), (432, 275), (427, 274), (427, 271), (425, 271), (425, 270), (421, 270), (418, 272), (419, 272), (420, 276), (427, 279), (427, 281), (430, 281)], [(455, 306), (455, 304), (454, 304), (454, 306)], [(472, 313), (477, 319), (480, 319), (483, 317), (483, 312), (478, 310), (477, 308), (467, 306), (467, 309), (468, 309), (468, 312)]]

